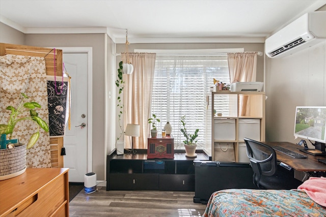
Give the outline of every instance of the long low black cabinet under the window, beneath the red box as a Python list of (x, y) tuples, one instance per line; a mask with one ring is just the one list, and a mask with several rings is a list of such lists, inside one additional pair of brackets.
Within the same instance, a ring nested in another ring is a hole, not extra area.
[[(146, 151), (146, 150), (144, 150)], [(106, 190), (195, 191), (194, 158), (184, 152), (174, 159), (147, 159), (147, 153), (107, 156)], [(196, 160), (209, 160), (206, 153), (197, 153)]]

